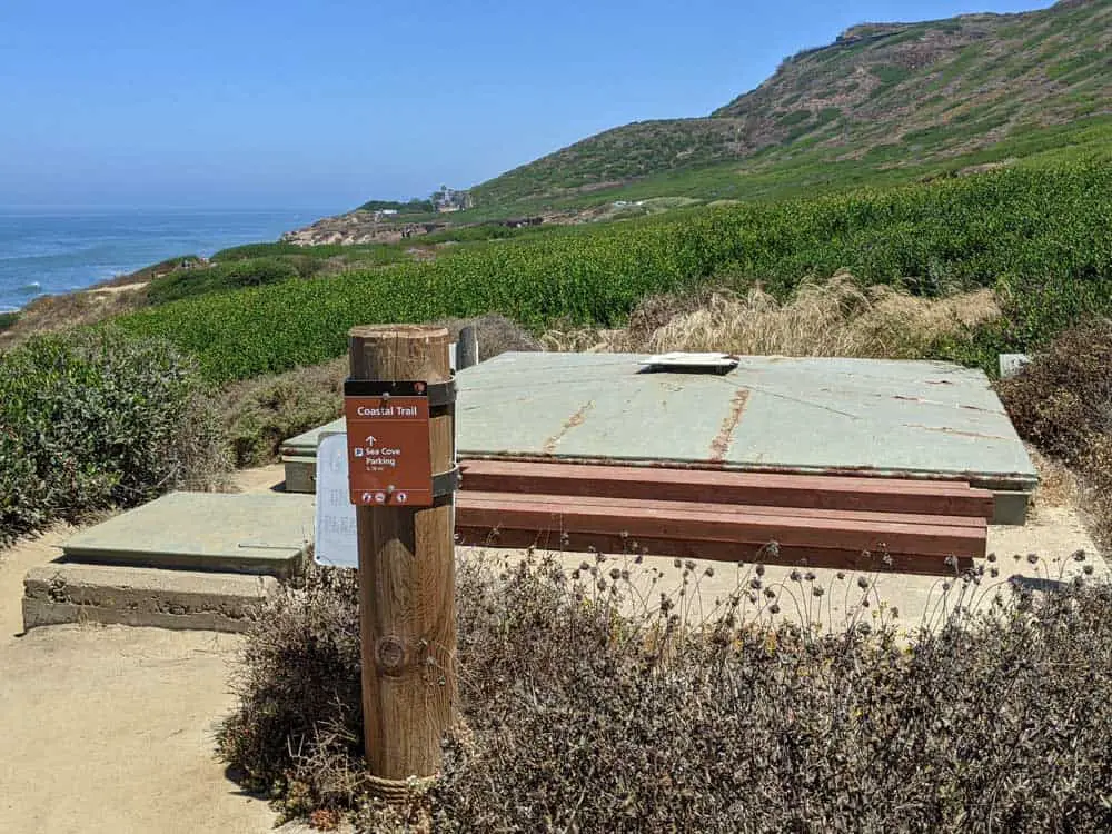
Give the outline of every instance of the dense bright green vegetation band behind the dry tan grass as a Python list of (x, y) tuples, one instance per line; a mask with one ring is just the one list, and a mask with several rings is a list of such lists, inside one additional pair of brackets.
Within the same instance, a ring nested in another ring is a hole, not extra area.
[(120, 319), (170, 338), (216, 380), (342, 353), (355, 324), (502, 312), (535, 327), (614, 324), (643, 297), (707, 282), (801, 280), (848, 268), (867, 282), (935, 295), (993, 287), (1007, 325), (983, 350), (1042, 344), (1112, 305), (1108, 157), (940, 179), (890, 190), (686, 209), (661, 218), (564, 227), (312, 280), (215, 292)]

